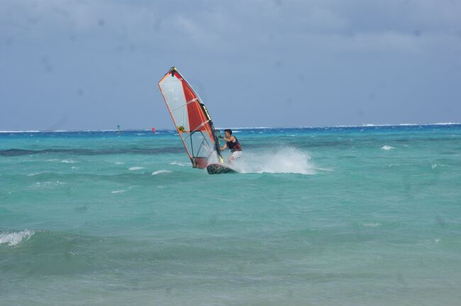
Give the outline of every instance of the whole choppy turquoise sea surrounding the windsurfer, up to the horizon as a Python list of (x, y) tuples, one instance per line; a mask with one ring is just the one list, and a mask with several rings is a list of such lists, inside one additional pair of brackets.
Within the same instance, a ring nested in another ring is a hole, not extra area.
[(0, 133), (0, 305), (459, 305), (461, 125)]

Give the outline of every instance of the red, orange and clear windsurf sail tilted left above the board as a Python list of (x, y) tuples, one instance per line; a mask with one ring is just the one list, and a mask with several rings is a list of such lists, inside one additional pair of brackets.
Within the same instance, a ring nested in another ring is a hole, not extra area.
[(223, 163), (213, 121), (189, 82), (172, 67), (158, 86), (192, 166), (205, 169), (210, 162)]

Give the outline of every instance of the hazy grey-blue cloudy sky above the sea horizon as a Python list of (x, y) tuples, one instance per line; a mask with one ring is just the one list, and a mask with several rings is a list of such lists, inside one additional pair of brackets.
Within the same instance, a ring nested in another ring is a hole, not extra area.
[(0, 1), (0, 130), (460, 123), (461, 1)]

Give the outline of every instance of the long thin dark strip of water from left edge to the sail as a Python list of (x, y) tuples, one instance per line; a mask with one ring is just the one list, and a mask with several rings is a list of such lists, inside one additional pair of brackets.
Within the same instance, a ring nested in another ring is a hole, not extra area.
[(118, 149), (3, 149), (0, 156), (16, 157), (32, 154), (72, 154), (72, 155), (109, 155), (109, 154), (166, 154), (182, 153), (182, 147), (163, 147), (163, 148), (118, 148)]

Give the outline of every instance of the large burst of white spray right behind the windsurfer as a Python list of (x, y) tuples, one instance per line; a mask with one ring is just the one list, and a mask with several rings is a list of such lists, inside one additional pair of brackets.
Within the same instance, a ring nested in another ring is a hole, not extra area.
[(309, 154), (294, 147), (274, 149), (272, 152), (243, 152), (242, 158), (231, 165), (242, 173), (316, 174)]

